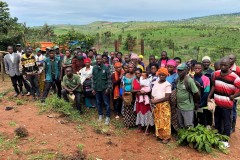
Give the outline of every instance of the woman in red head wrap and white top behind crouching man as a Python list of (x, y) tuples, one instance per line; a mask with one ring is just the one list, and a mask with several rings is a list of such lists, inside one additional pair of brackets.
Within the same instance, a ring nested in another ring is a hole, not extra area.
[(90, 108), (90, 107), (96, 106), (95, 97), (91, 94), (92, 93), (92, 86), (91, 86), (92, 70), (93, 70), (93, 66), (91, 66), (91, 59), (85, 58), (84, 65), (85, 67), (79, 71), (79, 75), (80, 75), (81, 84), (83, 86), (83, 93), (85, 96), (85, 106)]

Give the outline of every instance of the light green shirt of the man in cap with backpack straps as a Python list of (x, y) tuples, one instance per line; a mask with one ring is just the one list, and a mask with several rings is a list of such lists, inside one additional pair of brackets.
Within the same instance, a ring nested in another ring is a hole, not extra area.
[[(198, 88), (192, 78), (188, 78), (188, 85), (193, 94), (198, 92)], [(191, 111), (194, 109), (193, 96), (186, 90), (184, 81), (180, 80), (177, 83), (177, 106), (180, 110), (183, 111)]]

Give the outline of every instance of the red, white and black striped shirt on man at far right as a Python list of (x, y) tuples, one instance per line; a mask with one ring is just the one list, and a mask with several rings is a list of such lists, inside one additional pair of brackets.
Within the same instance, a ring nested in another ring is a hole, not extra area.
[(221, 71), (214, 72), (213, 81), (215, 82), (214, 100), (217, 106), (223, 108), (232, 108), (233, 101), (230, 96), (239, 92), (240, 78), (234, 72), (225, 76), (221, 75)]

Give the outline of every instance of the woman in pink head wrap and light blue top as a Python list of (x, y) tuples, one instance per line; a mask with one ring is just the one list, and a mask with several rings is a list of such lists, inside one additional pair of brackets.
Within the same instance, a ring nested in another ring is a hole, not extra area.
[(170, 106), (171, 106), (171, 124), (173, 128), (178, 131), (179, 125), (177, 121), (177, 99), (176, 99), (176, 80), (178, 79), (178, 74), (176, 73), (177, 63), (175, 60), (169, 60), (167, 62), (167, 69), (169, 76), (166, 80), (172, 85), (172, 94), (170, 97)]

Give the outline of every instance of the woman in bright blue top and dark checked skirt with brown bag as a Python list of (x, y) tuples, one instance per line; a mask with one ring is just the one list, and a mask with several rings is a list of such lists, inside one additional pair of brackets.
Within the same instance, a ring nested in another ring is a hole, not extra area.
[(135, 96), (133, 90), (133, 80), (135, 79), (134, 73), (135, 65), (128, 64), (128, 73), (123, 77), (123, 123), (124, 126), (134, 127), (136, 125), (136, 114), (134, 112)]

